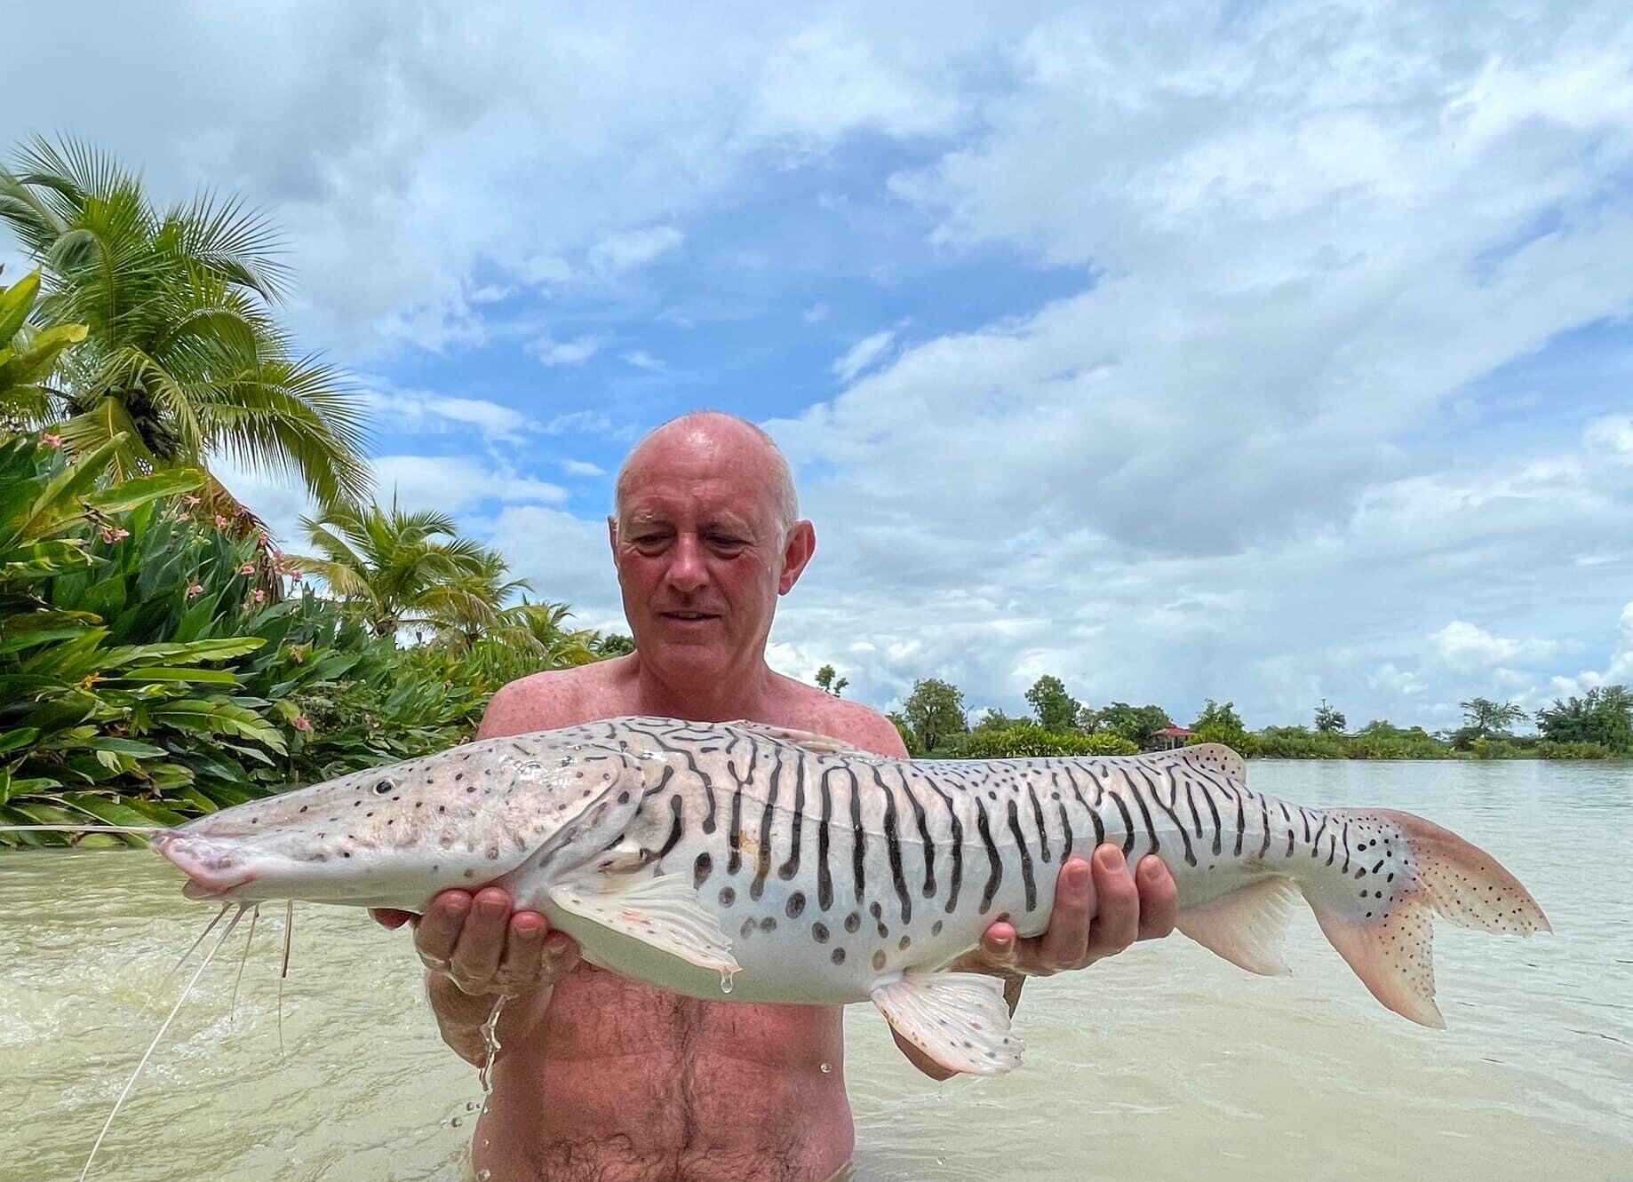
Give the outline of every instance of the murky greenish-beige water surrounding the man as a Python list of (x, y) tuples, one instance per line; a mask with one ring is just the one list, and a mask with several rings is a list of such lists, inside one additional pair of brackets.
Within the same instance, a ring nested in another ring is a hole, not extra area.
[[(1422, 813), (1496, 854), (1553, 935), (1437, 926), (1448, 1029), (1382, 1009), (1308, 913), (1292, 978), (1184, 937), (1032, 981), (1019, 1071), (934, 1084), (852, 1006), (854, 1182), (1633, 1179), (1633, 769), (1274, 762), (1310, 805)], [(78, 1177), (209, 911), (142, 851), (0, 855), (0, 1179)], [(206, 971), (93, 1179), (457, 1182), (477, 1074), (436, 1037), (403, 932), (297, 906)], [(191, 970), (191, 965), (189, 965)], [(495, 1182), (505, 1182), (495, 1179)]]

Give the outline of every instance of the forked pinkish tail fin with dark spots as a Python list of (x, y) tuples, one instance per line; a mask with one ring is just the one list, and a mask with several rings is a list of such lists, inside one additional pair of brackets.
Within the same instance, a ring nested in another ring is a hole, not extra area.
[(1372, 996), (1444, 1027), (1434, 1001), (1434, 914), (1506, 935), (1553, 931), (1519, 878), (1478, 846), (1393, 810), (1333, 810), (1347, 823), (1341, 872), (1300, 885), (1316, 921)]

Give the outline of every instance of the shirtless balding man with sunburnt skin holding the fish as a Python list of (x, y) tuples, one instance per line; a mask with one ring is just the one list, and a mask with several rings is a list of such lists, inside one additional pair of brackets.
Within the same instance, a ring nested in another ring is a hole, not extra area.
[[(815, 534), (763, 431), (715, 411), (658, 428), (619, 473), (607, 531), (635, 651), (505, 686), (482, 736), (648, 713), (751, 718), (906, 754), (882, 715), (766, 664), (777, 598), (810, 562)], [(962, 965), (1003, 975), (1011, 1009), (1026, 975), (1079, 968), (1172, 929), (1176, 890), (1159, 860), (1130, 877), (1107, 844), (1091, 862), (1061, 870), (1047, 932), (1017, 940), (994, 922)], [(820, 1182), (851, 1158), (839, 1007), (705, 1002), (624, 980), (581, 963), (565, 934), (513, 913), (495, 888), (439, 895), (415, 945), (443, 1038), (470, 1063), (483, 1061), (482, 1027), (506, 998), (472, 1146), (472, 1166), (495, 1182)]]

